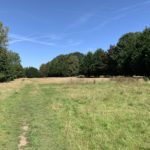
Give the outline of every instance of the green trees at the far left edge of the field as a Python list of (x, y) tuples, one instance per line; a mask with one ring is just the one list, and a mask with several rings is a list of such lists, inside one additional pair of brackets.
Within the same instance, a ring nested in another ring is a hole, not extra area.
[(17, 53), (7, 49), (8, 28), (0, 22), (0, 82), (23, 77), (23, 68)]

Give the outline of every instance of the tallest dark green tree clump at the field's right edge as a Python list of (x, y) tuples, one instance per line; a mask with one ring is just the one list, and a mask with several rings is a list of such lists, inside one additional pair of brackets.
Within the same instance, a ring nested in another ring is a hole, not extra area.
[(150, 29), (123, 35), (107, 55), (111, 75), (150, 76)]

